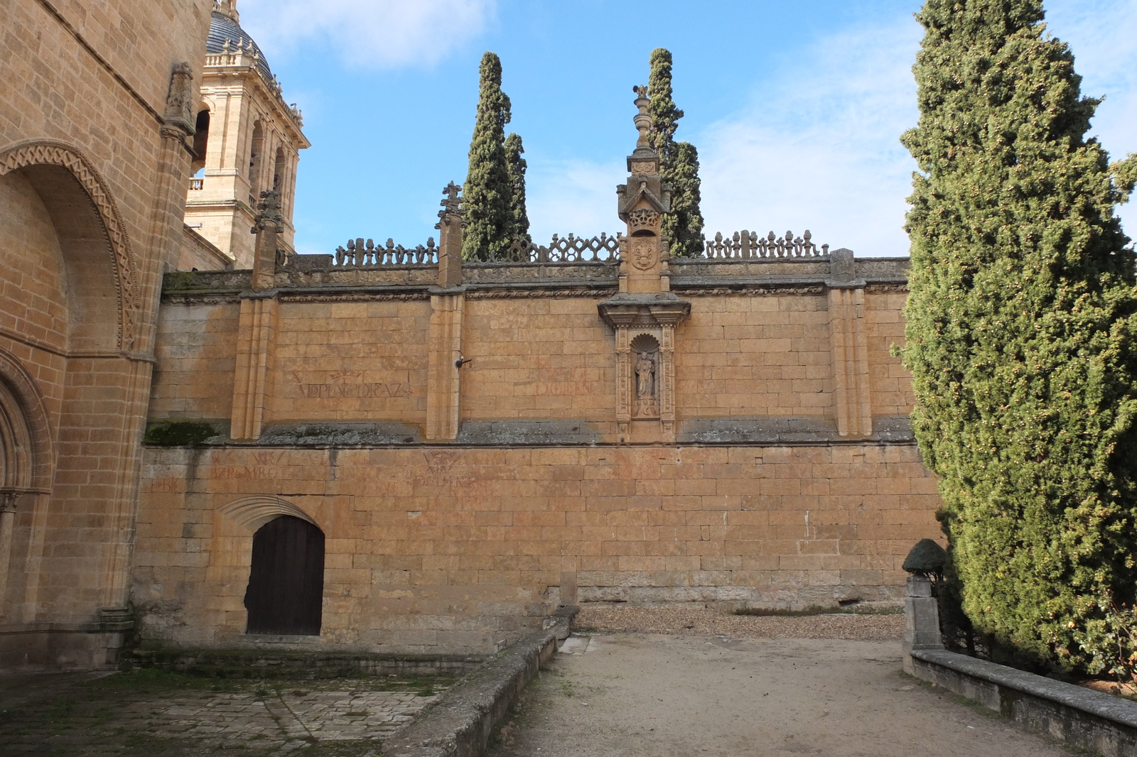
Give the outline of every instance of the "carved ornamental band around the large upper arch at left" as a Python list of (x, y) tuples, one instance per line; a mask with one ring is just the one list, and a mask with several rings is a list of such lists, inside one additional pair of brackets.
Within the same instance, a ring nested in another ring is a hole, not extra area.
[(98, 211), (110, 240), (113, 263), (117, 274), (118, 348), (133, 349), (140, 301), (139, 276), (122, 216), (107, 183), (83, 153), (66, 142), (34, 140), (17, 142), (0, 150), (0, 176), (18, 168), (38, 165), (61, 166), (69, 170)]

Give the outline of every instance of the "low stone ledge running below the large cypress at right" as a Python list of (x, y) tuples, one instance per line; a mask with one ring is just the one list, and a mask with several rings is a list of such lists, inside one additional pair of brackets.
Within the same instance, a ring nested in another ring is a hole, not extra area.
[(1105, 757), (1137, 757), (1137, 702), (941, 649), (913, 649), (918, 679)]

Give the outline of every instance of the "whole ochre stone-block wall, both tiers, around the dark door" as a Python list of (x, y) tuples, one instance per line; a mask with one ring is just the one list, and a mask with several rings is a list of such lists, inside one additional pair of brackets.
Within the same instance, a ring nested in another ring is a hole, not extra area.
[[(484, 654), (559, 602), (898, 602), (939, 501), (889, 353), (905, 265), (856, 261), (843, 293), (827, 260), (675, 264), (674, 439), (646, 443), (616, 418), (614, 265), (467, 264), (455, 368), (431, 266), (291, 263), (251, 439), (230, 423), (249, 273), (172, 274), (151, 418), (216, 435), (147, 451), (143, 637)], [(425, 427), (439, 366), (449, 439)], [(244, 634), (252, 534), (284, 514), (326, 538), (318, 639)]]

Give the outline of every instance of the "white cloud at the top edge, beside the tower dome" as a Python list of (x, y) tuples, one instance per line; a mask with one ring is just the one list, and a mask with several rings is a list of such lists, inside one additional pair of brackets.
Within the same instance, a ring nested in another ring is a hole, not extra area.
[(335, 50), (348, 65), (431, 65), (476, 36), (495, 0), (241, 0), (241, 25), (268, 60), (300, 44)]

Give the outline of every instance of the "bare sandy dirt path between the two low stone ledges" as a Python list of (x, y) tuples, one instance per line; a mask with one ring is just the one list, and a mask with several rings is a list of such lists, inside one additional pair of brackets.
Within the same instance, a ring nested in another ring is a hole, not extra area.
[(580, 634), (488, 756), (1070, 754), (965, 701), (905, 676), (896, 640)]

